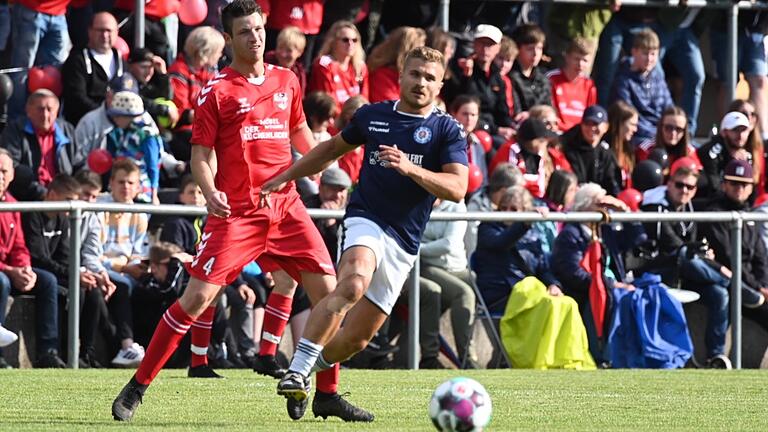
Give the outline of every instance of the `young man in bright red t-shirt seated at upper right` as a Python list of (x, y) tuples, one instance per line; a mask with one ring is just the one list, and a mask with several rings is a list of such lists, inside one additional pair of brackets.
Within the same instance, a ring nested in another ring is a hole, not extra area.
[(565, 66), (547, 74), (562, 131), (581, 123), (584, 110), (597, 103), (595, 83), (587, 76), (593, 50), (586, 40), (574, 39), (565, 52)]

